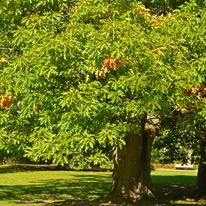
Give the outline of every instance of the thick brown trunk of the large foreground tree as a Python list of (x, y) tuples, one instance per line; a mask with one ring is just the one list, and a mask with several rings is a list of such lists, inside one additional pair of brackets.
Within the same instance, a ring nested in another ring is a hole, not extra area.
[(114, 154), (113, 185), (110, 193), (114, 203), (138, 204), (151, 191), (150, 156), (154, 139), (154, 126), (142, 120), (138, 134), (125, 137), (126, 145)]

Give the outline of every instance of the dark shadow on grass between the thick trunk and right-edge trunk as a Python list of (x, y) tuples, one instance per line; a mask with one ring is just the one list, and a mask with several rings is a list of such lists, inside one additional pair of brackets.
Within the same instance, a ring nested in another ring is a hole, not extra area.
[[(153, 176), (155, 201), (162, 205), (206, 205), (196, 195), (196, 176)], [(149, 203), (149, 202), (148, 202)], [(150, 204), (148, 204), (150, 205)]]

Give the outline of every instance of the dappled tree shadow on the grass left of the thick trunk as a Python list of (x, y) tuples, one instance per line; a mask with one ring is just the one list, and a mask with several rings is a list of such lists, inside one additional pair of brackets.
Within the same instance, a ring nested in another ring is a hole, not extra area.
[(108, 175), (72, 175), (72, 179), (42, 180), (29, 185), (0, 186), (0, 202), (39, 205), (92, 205), (92, 200), (108, 193)]

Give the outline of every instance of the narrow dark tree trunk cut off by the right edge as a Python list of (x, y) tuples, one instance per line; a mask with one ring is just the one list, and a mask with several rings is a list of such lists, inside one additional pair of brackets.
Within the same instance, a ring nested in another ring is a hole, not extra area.
[(201, 160), (197, 175), (197, 193), (200, 197), (206, 196), (206, 139), (201, 142)]

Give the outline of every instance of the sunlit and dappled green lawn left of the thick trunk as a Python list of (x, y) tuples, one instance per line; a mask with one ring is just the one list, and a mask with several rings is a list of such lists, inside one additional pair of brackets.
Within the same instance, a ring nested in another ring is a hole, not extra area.
[(0, 206), (84, 205), (109, 191), (111, 173), (0, 170)]

